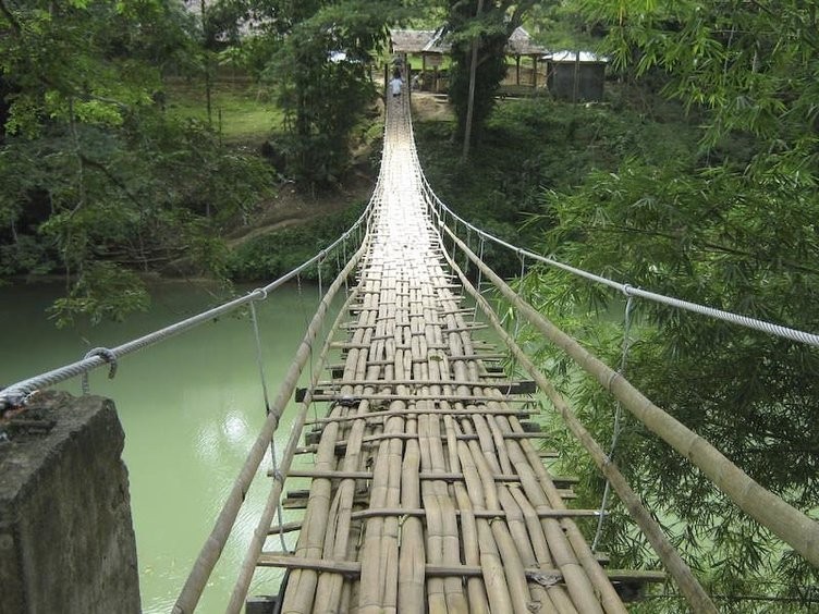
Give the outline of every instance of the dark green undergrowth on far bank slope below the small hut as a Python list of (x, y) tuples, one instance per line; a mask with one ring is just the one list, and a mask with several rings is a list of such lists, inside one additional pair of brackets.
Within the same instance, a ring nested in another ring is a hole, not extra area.
[[(591, 170), (615, 171), (629, 152), (663, 159), (696, 156), (696, 133), (671, 109), (663, 122), (625, 108), (576, 106), (543, 98), (505, 100), (487, 122), (482, 145), (461, 161), (448, 123), (415, 126), (425, 172), (439, 196), (488, 232), (535, 246), (555, 222), (545, 189), (570, 191)], [(531, 222), (536, 217), (538, 223)], [(519, 262), (486, 245), (487, 260), (504, 274)]]

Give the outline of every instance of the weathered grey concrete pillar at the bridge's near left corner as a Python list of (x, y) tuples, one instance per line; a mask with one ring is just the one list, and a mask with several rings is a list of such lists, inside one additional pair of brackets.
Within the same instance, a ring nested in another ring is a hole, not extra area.
[(2, 425), (0, 612), (138, 613), (124, 433), (113, 402), (37, 395)]

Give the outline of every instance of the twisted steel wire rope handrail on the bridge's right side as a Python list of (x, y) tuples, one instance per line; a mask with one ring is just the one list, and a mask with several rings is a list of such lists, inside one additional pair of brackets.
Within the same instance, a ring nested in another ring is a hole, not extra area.
[[(585, 271), (583, 269), (578, 269), (576, 267), (572, 267), (571, 265), (566, 265), (564, 262), (561, 262), (559, 260), (554, 260), (553, 258), (548, 258), (546, 256), (542, 256), (540, 254), (537, 254), (535, 251), (530, 251), (528, 249), (525, 249), (523, 247), (518, 247), (517, 245), (513, 245), (506, 241), (503, 241), (502, 238), (499, 238), (477, 226), (474, 224), (467, 222), (465, 219), (463, 219), (461, 216), (455, 213), (451, 208), (449, 208), (432, 191), (432, 188), (429, 185), (429, 182), (427, 181), (426, 176), (423, 176), (423, 183), (425, 188), (425, 194), (427, 198), (431, 199), (435, 205), (440, 209), (440, 211), (444, 212), (447, 216), (452, 217), (453, 220), (455, 220), (457, 223), (463, 224), (464, 228), (466, 228), (470, 232), (477, 233), (477, 236), (480, 240), (488, 240), (492, 243), (500, 245), (501, 247), (504, 247), (509, 249), (510, 251), (514, 251), (521, 257), (531, 258), (533, 260), (537, 262), (541, 262), (543, 265), (547, 265), (549, 267), (553, 267), (555, 269), (561, 269), (563, 271), (566, 271), (569, 273), (572, 273), (574, 275), (584, 278), (586, 280), (592, 281), (595, 283), (599, 283), (602, 285), (607, 285), (611, 288), (614, 288), (619, 292), (622, 292), (626, 296), (637, 296), (639, 298), (646, 298), (648, 300), (652, 300), (655, 303), (659, 303), (662, 305), (667, 305), (669, 307), (675, 307), (677, 309), (683, 309), (685, 311), (690, 311), (694, 314), (698, 314), (700, 316), (707, 316), (709, 318), (713, 318), (717, 320), (722, 320), (725, 322), (730, 322), (732, 324), (737, 324), (741, 327), (745, 327), (747, 329), (753, 329), (757, 331), (761, 331), (768, 334), (772, 334), (775, 336), (780, 336), (783, 339), (789, 339), (791, 341), (796, 341), (798, 343), (805, 343), (807, 345), (812, 345), (819, 347), (819, 334), (809, 333), (806, 331), (800, 331), (797, 329), (793, 329), (790, 327), (784, 327), (782, 324), (777, 324), (773, 322), (768, 322), (765, 320), (759, 320), (757, 318), (751, 318), (749, 316), (743, 316), (741, 314), (734, 314), (731, 311), (725, 311), (723, 309), (717, 309), (714, 307), (709, 307), (707, 305), (700, 305), (698, 303), (693, 303), (690, 300), (684, 300), (682, 298), (676, 298), (673, 296), (667, 296), (663, 294), (659, 294), (656, 292), (650, 292), (648, 290), (643, 290), (640, 287), (627, 284), (627, 283), (621, 283), (613, 280), (610, 280), (608, 278), (604, 278), (602, 275), (598, 275), (595, 273), (591, 273), (589, 271)], [(445, 218), (443, 214), (439, 214), (439, 220), (445, 221)]]

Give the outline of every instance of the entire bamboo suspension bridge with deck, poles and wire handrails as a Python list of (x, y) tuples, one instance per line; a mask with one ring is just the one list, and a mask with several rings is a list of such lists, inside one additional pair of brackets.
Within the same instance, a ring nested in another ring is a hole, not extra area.
[[(459, 228), (479, 237), (479, 250), (456, 232)], [(570, 403), (505, 332), (482, 297), (484, 284), (504, 296), (521, 318), (565, 351), (744, 512), (819, 565), (817, 521), (762, 489), (524, 303), (482, 262), (484, 242), (491, 238), (437, 199), (416, 156), (406, 97), (389, 97), (381, 172), (367, 211), (339, 242), (286, 277), (308, 266), (318, 265), (320, 271), (321, 262), (332, 255), (338, 259), (340, 273), (322, 292), (304, 342), (272, 398), (261, 369), (267, 420), (173, 612), (195, 611), (266, 458), (272, 464), (269, 496), (228, 612), (245, 606), (258, 567), (286, 569), (282, 586), (270, 587), (270, 594), (278, 597), (267, 610), (284, 614), (614, 613), (626, 611), (624, 595), (629, 591), (624, 589), (664, 581), (667, 576), (693, 611), (717, 611)], [(498, 243), (518, 256), (613, 285), (629, 298), (693, 308), (704, 316), (819, 345), (819, 337), (810, 333), (653, 295)], [(459, 267), (456, 254), (478, 271), (477, 287)], [(352, 278), (356, 283), (350, 287)], [(249, 307), (255, 324), (254, 304), (286, 279), (216, 311)], [(329, 323), (330, 305), (340, 294), (345, 295), (344, 307)], [(473, 306), (465, 305), (467, 296)], [(91, 351), (80, 363), (5, 389), (0, 398), (7, 405), (22, 404), (36, 390), (115, 365), (130, 352), (212, 319), (213, 311), (118, 348)], [(485, 326), (504, 343), (503, 354), (476, 335)], [(329, 363), (334, 353), (341, 354), (341, 364)], [(527, 379), (501, 372), (496, 361), (503, 356), (510, 356)], [(283, 450), (274, 450), (272, 434), (308, 361), (315, 365), (309, 385), (297, 391), (300, 404), (290, 439)], [(573, 479), (547, 469), (538, 443), (541, 433), (533, 431), (529, 422), (539, 406), (534, 393), (548, 400), (586, 447), (653, 545), (663, 572), (609, 569), (592, 551), (576, 520), (599, 519), (604, 508), (577, 509), (567, 504)], [(326, 413), (310, 418), (310, 408), (317, 406)], [(314, 466), (293, 469), (296, 455), (310, 455)], [(289, 478), (309, 478), (309, 489), (288, 493)], [(303, 507), (303, 518), (284, 523), (283, 504)], [(295, 531), (298, 537), (291, 550), (281, 536)]]

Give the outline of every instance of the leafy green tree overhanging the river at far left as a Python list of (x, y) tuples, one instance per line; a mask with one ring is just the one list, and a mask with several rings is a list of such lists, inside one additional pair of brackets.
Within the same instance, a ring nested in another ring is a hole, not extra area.
[(213, 226), (269, 181), (155, 103), (163, 65), (197, 49), (188, 25), (158, 0), (0, 1), (0, 274), (62, 269), (61, 321), (144, 308), (135, 271), (157, 262), (218, 267)]

